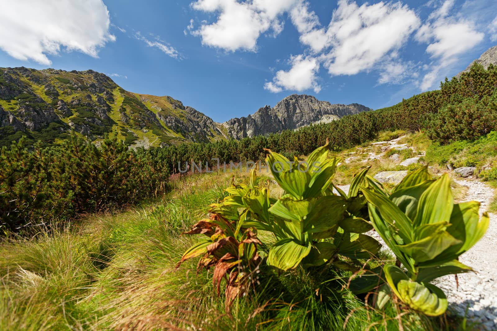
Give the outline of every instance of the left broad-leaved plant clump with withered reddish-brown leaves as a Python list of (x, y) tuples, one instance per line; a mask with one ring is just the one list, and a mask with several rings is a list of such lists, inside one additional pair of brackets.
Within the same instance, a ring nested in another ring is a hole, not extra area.
[[(355, 260), (378, 253), (381, 245), (363, 234), (373, 228), (362, 218), (367, 217), (367, 208), (359, 190), (369, 185), (367, 169), (354, 178), (349, 196), (343, 192), (334, 195), (331, 180), (340, 159), (328, 158), (327, 145), (301, 163), (268, 150), (266, 164), (284, 190), (283, 196), (270, 198), (268, 188), (255, 185), (256, 173), (252, 170), (248, 185), (232, 182), (226, 189), (230, 196), (211, 205), (210, 219), (201, 220), (187, 232), (204, 234), (208, 239), (186, 251), (179, 264), (202, 256), (198, 269), (214, 266), (213, 282), (218, 293), (226, 276), (227, 309), (254, 282), (262, 258), (280, 270), (325, 264), (356, 270)], [(257, 230), (271, 233), (274, 240), (261, 243)]]

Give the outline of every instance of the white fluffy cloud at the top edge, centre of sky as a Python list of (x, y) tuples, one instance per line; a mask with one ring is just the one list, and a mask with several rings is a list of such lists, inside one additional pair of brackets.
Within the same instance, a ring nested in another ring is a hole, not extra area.
[(202, 22), (200, 28), (191, 33), (201, 37), (203, 45), (232, 52), (255, 51), (257, 39), (262, 33), (271, 30), (271, 35), (276, 36), (283, 30), (278, 15), (289, 10), (296, 1), (197, 0), (191, 3), (193, 9), (216, 12), (218, 16), (216, 22)]

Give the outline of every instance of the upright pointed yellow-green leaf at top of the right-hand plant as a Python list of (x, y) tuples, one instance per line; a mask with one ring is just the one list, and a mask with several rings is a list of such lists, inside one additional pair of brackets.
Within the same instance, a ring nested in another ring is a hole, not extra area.
[(419, 226), (449, 221), (453, 205), (454, 198), (450, 191), (450, 178), (444, 174), (419, 197), (414, 224)]

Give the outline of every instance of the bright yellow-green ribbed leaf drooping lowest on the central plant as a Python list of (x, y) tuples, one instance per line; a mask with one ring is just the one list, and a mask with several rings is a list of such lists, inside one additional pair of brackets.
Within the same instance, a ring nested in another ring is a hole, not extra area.
[(283, 239), (269, 249), (267, 264), (282, 270), (293, 269), (310, 251), (310, 242), (307, 246), (302, 246), (291, 239)]

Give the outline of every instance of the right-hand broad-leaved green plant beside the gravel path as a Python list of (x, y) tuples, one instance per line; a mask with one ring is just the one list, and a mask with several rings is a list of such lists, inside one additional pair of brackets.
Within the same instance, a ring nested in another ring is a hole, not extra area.
[[(405, 268), (383, 267), (391, 290), (416, 311), (428, 316), (443, 314), (445, 294), (429, 282), (473, 270), (457, 259), (485, 234), (487, 213), (480, 219), (477, 201), (454, 204), (448, 175), (433, 180), (427, 167), (405, 177), (389, 196), (373, 186), (364, 187), (362, 193), (375, 230)], [(388, 292), (386, 285), (380, 287), (380, 307)]]

